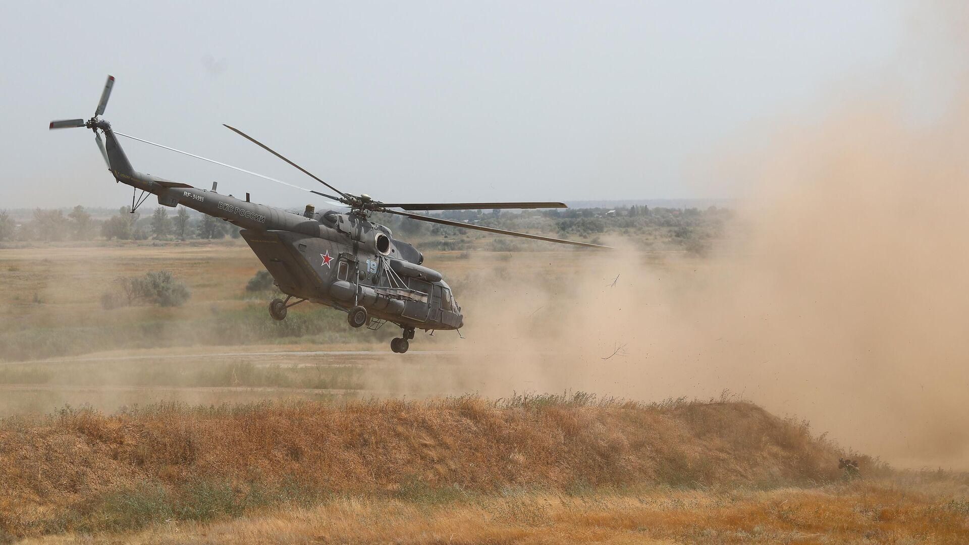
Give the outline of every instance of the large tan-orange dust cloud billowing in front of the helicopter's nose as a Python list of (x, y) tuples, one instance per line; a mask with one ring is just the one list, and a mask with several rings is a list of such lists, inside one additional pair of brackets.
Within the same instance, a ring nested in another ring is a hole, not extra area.
[[(943, 73), (964, 83), (964, 68)], [(894, 465), (969, 468), (961, 83), (930, 121), (880, 87), (748, 136), (716, 162), (747, 198), (709, 258), (610, 240), (483, 261), (463, 282), (471, 355), (420, 380), (489, 396), (729, 390)]]

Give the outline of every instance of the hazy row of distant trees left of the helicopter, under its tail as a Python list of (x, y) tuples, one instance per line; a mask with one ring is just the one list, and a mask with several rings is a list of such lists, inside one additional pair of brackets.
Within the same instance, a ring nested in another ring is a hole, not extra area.
[(237, 238), (238, 232), (227, 221), (184, 207), (178, 207), (175, 213), (158, 207), (146, 217), (121, 207), (106, 219), (96, 219), (80, 206), (66, 214), (60, 209), (35, 208), (30, 219), (21, 221), (7, 210), (0, 210), (0, 241), (223, 239)]

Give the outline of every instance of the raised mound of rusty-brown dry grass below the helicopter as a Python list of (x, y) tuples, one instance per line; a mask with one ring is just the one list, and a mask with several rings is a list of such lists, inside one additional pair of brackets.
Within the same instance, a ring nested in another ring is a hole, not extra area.
[(422, 505), (547, 491), (837, 479), (839, 452), (742, 401), (593, 397), (161, 404), (0, 422), (9, 535), (208, 521), (346, 495)]

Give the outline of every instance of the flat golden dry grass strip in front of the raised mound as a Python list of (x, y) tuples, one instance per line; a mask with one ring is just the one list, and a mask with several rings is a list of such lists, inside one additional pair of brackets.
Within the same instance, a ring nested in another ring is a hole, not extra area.
[(528, 493), (434, 506), (340, 497), (234, 521), (27, 543), (965, 543), (967, 515), (964, 483), (929, 492), (890, 480), (814, 490)]

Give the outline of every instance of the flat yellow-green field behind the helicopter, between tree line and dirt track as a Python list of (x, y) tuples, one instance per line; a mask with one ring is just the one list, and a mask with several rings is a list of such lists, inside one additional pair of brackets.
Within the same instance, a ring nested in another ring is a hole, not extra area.
[[(561, 274), (558, 266), (574, 255), (570, 249), (532, 254), (489, 249), (487, 240), (479, 244), (484, 248), (474, 256), (466, 250), (427, 250), (427, 264), (447, 273), (455, 294), (474, 296), (490, 275), (483, 274), (483, 264), (555, 278)], [(390, 326), (377, 333), (355, 331), (345, 314), (319, 305), (297, 305), (285, 321), (268, 320), (268, 301), (278, 293), (245, 289), (262, 269), (243, 241), (228, 239), (0, 249), (0, 361), (199, 345), (359, 348), (384, 345), (399, 335)], [(149, 271), (172, 272), (191, 290), (189, 301), (177, 307), (101, 305), (105, 293), (120, 290), (118, 278)]]

